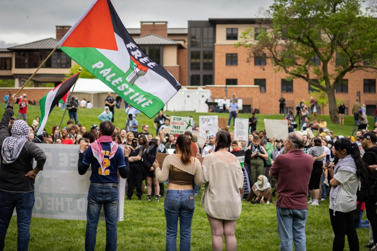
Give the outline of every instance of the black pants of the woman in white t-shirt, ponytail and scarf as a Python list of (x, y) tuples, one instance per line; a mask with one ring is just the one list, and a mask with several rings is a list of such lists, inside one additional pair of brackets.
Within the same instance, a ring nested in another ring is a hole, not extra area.
[(343, 250), (345, 236), (347, 235), (349, 251), (359, 251), (359, 237), (357, 237), (354, 221), (354, 211), (347, 213), (330, 211), (330, 221), (334, 231), (333, 251)]

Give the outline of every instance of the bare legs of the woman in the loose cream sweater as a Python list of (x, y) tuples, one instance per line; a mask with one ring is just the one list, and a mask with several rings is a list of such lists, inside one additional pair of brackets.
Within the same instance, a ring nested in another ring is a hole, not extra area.
[(212, 218), (207, 214), (212, 232), (212, 250), (222, 251), (222, 236), (225, 237), (225, 249), (235, 251), (237, 249), (237, 240), (235, 236), (236, 221), (227, 221)]

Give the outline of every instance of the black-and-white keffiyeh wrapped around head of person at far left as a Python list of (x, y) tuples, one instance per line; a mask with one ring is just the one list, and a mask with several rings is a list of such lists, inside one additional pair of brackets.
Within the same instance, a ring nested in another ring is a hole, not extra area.
[(20, 152), (29, 140), (30, 128), (24, 120), (16, 120), (11, 129), (11, 136), (3, 142), (1, 155), (3, 163), (10, 164), (18, 158)]

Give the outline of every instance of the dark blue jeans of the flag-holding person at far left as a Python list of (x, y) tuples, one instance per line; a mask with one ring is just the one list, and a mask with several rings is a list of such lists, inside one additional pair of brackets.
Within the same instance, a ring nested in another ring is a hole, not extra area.
[(34, 191), (29, 193), (4, 192), (0, 190), (0, 250), (4, 249), (14, 208), (17, 212), (17, 250), (28, 250), (31, 213), (34, 207)]

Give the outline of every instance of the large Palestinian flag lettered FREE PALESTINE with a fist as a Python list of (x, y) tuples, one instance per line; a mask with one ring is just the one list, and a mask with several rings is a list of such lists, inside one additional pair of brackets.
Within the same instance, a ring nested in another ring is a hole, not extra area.
[(181, 88), (133, 41), (110, 0), (96, 0), (58, 47), (149, 118)]

